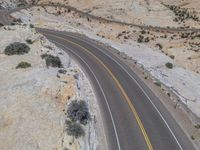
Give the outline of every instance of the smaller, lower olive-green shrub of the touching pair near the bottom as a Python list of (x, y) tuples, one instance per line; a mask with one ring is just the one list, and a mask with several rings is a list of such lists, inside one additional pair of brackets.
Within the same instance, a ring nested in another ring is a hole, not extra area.
[(83, 127), (76, 122), (67, 121), (67, 134), (70, 136), (74, 136), (75, 138), (79, 138), (85, 135), (85, 131)]

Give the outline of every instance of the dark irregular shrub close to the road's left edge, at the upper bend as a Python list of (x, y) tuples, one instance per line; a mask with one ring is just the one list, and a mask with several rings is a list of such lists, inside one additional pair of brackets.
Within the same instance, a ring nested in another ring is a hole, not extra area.
[(45, 59), (47, 67), (58, 67), (62, 68), (62, 62), (58, 56), (53, 56), (50, 54), (42, 54), (41, 55), (42, 59)]

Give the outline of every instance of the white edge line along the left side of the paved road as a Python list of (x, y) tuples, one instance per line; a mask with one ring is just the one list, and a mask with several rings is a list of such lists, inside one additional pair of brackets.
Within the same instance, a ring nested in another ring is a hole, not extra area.
[[(69, 48), (66, 47), (65, 45), (60, 44), (60, 43), (58, 43), (58, 42), (56, 42), (56, 41), (54, 41), (54, 40), (50, 40), (50, 41), (53, 41), (54, 43), (57, 43), (58, 45), (63, 46), (64, 48), (66, 48), (67, 50), (69, 50), (71, 53), (73, 53), (74, 55), (76, 55), (77, 57), (79, 57), (79, 58), (86, 64), (86, 66), (88, 67), (88, 69), (90, 70), (90, 72), (92, 73), (92, 75), (94, 76), (95, 80), (97, 81), (97, 83), (98, 83), (98, 85), (99, 85), (99, 87), (100, 87), (100, 89), (101, 89), (101, 92), (102, 92), (103, 97), (104, 97), (104, 99), (105, 99), (106, 105), (107, 105), (107, 107), (108, 107), (108, 111), (109, 111), (109, 113), (110, 113), (110, 117), (111, 117), (112, 124), (113, 124), (114, 131), (115, 131), (115, 136), (116, 136), (116, 140), (117, 140), (117, 145), (118, 145), (119, 150), (121, 150), (121, 146), (120, 146), (120, 143), (119, 143), (119, 137), (118, 137), (118, 134), (117, 134), (117, 130), (116, 130), (115, 122), (114, 122), (114, 119), (113, 119), (113, 115), (112, 115), (110, 106), (109, 106), (109, 104), (108, 104), (108, 100), (107, 100), (107, 98), (106, 98), (106, 96), (105, 96), (105, 93), (104, 93), (104, 91), (103, 91), (103, 89), (102, 89), (102, 86), (100, 85), (99, 80), (98, 80), (97, 77), (95, 76), (94, 72), (92, 71), (92, 69), (90, 68), (90, 66), (87, 64), (87, 62), (85, 62), (78, 54), (76, 54), (75, 52), (73, 52), (71, 49), (69, 49)], [(105, 131), (104, 131), (104, 133), (105, 133)], [(106, 138), (106, 136), (105, 136), (105, 138)], [(106, 138), (106, 148), (108, 149), (107, 138)]]

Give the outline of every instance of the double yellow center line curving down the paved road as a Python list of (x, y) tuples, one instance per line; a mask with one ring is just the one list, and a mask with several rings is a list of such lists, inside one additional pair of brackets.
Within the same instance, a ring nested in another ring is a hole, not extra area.
[(80, 47), (81, 49), (85, 50), (85, 51), (88, 52), (90, 55), (92, 55), (92, 56), (106, 69), (106, 71), (108, 71), (108, 73), (109, 73), (110, 76), (113, 78), (113, 80), (115, 81), (116, 85), (118, 86), (119, 90), (121, 91), (122, 95), (125, 97), (125, 99), (126, 99), (128, 105), (129, 105), (129, 107), (131, 108), (131, 111), (133, 112), (133, 115), (134, 115), (134, 117), (135, 117), (135, 119), (136, 119), (136, 121), (137, 121), (137, 124), (138, 124), (138, 126), (139, 126), (139, 128), (140, 128), (140, 130), (141, 130), (141, 132), (142, 132), (142, 135), (144, 136), (144, 139), (145, 139), (145, 142), (146, 142), (146, 144), (147, 144), (148, 149), (149, 149), (149, 150), (153, 150), (152, 144), (151, 144), (151, 142), (150, 142), (150, 140), (149, 140), (149, 137), (148, 137), (148, 135), (147, 135), (147, 133), (146, 133), (146, 130), (144, 129), (144, 126), (143, 126), (143, 124), (142, 124), (142, 121), (140, 120), (139, 115), (138, 115), (138, 113), (137, 113), (135, 107), (133, 106), (133, 104), (132, 104), (130, 98), (128, 97), (128, 95), (126, 94), (126, 92), (125, 92), (125, 90), (123, 89), (122, 85), (119, 83), (119, 81), (117, 80), (117, 78), (115, 77), (115, 75), (112, 73), (112, 71), (111, 71), (97, 56), (95, 56), (92, 52), (90, 52), (88, 49), (84, 48), (83, 46), (81, 46), (81, 45), (79, 45), (79, 44), (77, 44), (77, 43), (74, 43), (74, 42), (72, 42), (72, 41), (69, 41), (69, 40), (67, 40), (67, 39), (65, 39), (65, 38), (62, 38), (62, 37), (53, 35), (53, 34), (49, 34), (49, 33), (45, 33), (45, 34), (48, 34), (48, 35), (57, 37), (57, 38), (59, 38), (59, 39), (62, 39), (62, 40), (64, 40), (64, 41), (67, 41), (67, 42), (69, 42), (69, 43), (72, 43), (73, 45), (76, 45), (76, 46)]

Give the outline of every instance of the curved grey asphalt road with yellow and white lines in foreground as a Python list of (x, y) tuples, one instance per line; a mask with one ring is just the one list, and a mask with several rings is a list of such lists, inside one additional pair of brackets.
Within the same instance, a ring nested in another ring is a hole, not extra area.
[(106, 47), (73, 33), (37, 30), (69, 53), (89, 77), (109, 150), (195, 149), (160, 100)]

